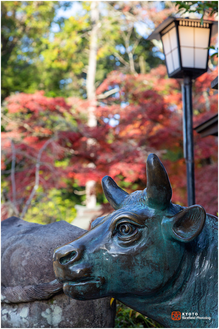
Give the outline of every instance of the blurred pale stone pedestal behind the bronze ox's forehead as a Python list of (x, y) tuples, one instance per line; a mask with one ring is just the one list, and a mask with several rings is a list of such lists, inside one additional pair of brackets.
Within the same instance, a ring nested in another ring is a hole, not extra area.
[(72, 225), (88, 230), (93, 219), (102, 214), (101, 206), (95, 208), (87, 208), (86, 206), (76, 205), (76, 218), (71, 222)]

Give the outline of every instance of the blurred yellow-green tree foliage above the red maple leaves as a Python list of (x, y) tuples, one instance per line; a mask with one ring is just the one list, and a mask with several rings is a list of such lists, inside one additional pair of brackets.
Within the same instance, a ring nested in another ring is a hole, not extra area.
[[(86, 96), (90, 2), (81, 1), (83, 10), (67, 19), (57, 19), (60, 7), (74, 5), (65, 1), (2, 1), (2, 100), (12, 92), (33, 93), (44, 90), (46, 96)], [(144, 15), (135, 15), (119, 3), (101, 2), (99, 10), (96, 85), (116, 69), (130, 72), (132, 50), (135, 70), (146, 71), (162, 60), (154, 55), (153, 44), (134, 27)], [(142, 6), (142, 5), (141, 5)], [(147, 8), (147, 5), (143, 5)], [(143, 8), (142, 7), (142, 10)], [(131, 18), (130, 18), (131, 15)], [(159, 15), (157, 13), (157, 15)], [(53, 27), (57, 32), (52, 32)], [(126, 41), (125, 39), (126, 38)], [(133, 48), (134, 47), (134, 48)], [(140, 65), (140, 59), (142, 64)]]

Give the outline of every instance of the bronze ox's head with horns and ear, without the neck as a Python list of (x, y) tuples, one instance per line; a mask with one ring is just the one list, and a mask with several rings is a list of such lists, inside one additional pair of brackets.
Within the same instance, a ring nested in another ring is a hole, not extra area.
[(169, 178), (155, 154), (147, 159), (146, 189), (128, 194), (109, 176), (102, 187), (115, 211), (55, 249), (57, 280), (68, 296), (79, 300), (122, 300), (162, 291), (176, 276), (186, 243), (201, 233), (204, 208), (171, 203)]

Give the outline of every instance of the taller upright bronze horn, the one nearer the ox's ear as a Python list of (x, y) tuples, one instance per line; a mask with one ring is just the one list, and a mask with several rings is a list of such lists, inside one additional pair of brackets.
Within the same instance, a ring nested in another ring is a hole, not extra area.
[(149, 154), (146, 169), (148, 206), (154, 209), (169, 207), (172, 189), (166, 170), (156, 154)]

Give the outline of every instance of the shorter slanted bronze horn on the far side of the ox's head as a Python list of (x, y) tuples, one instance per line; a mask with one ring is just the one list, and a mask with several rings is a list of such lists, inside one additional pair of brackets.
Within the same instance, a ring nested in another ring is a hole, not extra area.
[(105, 197), (107, 198), (111, 206), (115, 210), (120, 209), (121, 204), (125, 197), (128, 195), (128, 193), (120, 189), (120, 187), (110, 176), (103, 177), (102, 188)]

